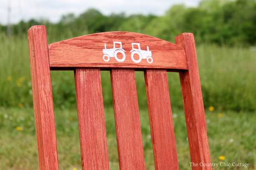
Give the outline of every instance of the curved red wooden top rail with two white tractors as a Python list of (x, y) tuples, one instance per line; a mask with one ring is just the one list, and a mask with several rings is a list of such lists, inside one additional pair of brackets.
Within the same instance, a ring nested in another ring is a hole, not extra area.
[(48, 45), (51, 68), (162, 68), (187, 70), (184, 48), (132, 32), (103, 32)]

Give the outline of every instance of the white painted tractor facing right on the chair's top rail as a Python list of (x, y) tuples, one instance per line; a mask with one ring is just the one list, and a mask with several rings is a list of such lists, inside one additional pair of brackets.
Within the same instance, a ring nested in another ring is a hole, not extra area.
[[(131, 45), (132, 45), (132, 50), (130, 51), (131, 60), (133, 60), (136, 63), (141, 62), (142, 59), (147, 59), (149, 64), (151, 64), (153, 62), (153, 59), (151, 57), (152, 53), (151, 53), (151, 51), (149, 51), (148, 46), (147, 46), (147, 51), (145, 51), (145, 50), (140, 49), (140, 43), (131, 43)], [(134, 45), (137, 45), (138, 48), (134, 48)], [(138, 54), (140, 58), (137, 60), (134, 59), (134, 54)], [(151, 60), (149, 61), (148, 59), (151, 59)]]

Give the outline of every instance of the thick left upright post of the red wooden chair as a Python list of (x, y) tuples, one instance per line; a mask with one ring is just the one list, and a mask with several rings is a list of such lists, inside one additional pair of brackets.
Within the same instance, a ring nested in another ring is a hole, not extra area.
[(28, 30), (35, 130), (40, 170), (58, 170), (52, 87), (45, 26)]

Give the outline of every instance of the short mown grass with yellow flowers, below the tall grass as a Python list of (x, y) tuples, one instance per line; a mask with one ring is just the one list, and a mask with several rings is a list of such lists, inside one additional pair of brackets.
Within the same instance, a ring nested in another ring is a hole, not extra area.
[[(256, 114), (206, 111), (207, 133), (212, 163), (249, 163), (249, 168), (218, 167), (219, 170), (256, 169)], [(173, 109), (175, 140), (180, 170), (191, 169), (186, 124), (182, 110)], [(118, 155), (113, 108), (105, 108), (108, 155), (111, 170), (118, 170)], [(147, 108), (140, 108), (145, 165), (154, 170)], [(0, 108), (0, 169), (38, 169), (37, 145), (33, 110), (29, 108)], [(58, 160), (61, 170), (81, 170), (81, 155), (76, 109), (63, 105), (55, 108)], [(17, 130), (21, 127), (22, 130)], [(219, 156), (225, 156), (223, 161)], [(215, 169), (215, 168), (213, 168)]]

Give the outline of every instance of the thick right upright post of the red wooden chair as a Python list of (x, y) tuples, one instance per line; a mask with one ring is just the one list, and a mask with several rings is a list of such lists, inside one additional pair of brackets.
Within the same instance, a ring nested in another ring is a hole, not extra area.
[[(188, 71), (180, 73), (180, 85), (186, 118), (191, 162), (210, 164), (209, 145), (204, 115), (204, 104), (195, 52), (194, 36), (183, 33), (175, 37), (177, 45), (186, 49)], [(211, 170), (212, 167), (194, 166), (193, 170)]]

